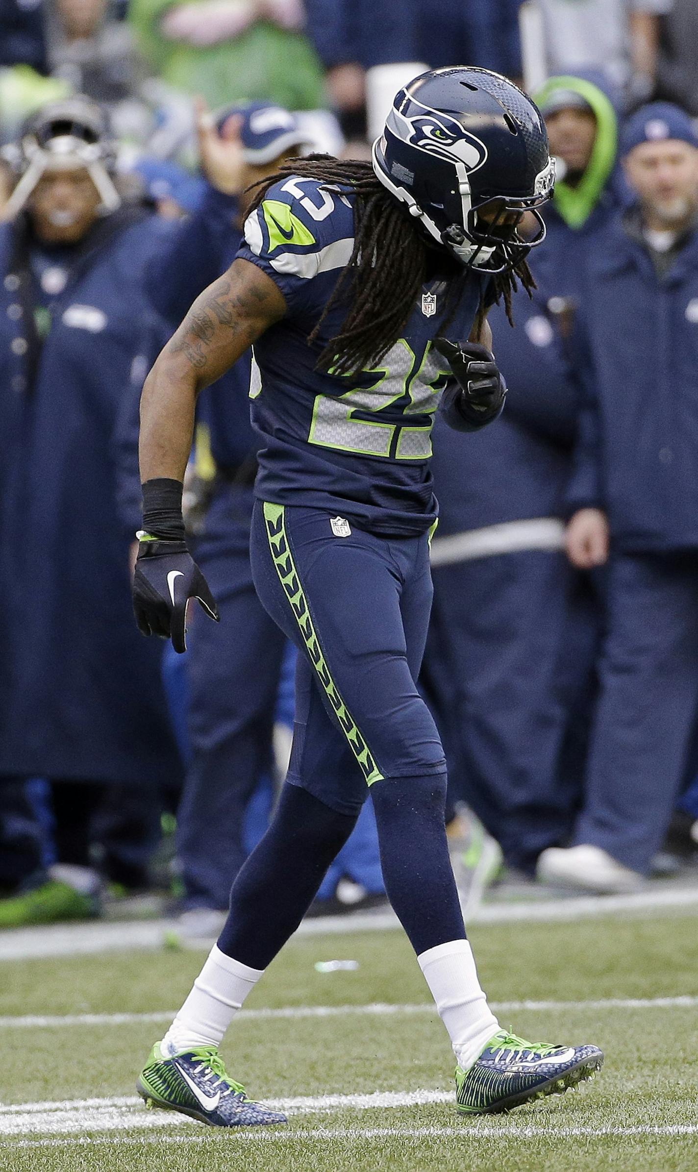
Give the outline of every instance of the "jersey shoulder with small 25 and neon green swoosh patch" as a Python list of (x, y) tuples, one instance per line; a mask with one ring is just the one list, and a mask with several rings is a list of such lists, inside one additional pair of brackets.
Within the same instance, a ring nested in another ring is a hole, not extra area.
[(292, 176), (273, 184), (247, 217), (245, 241), (276, 272), (309, 279), (349, 261), (354, 209), (338, 189)]

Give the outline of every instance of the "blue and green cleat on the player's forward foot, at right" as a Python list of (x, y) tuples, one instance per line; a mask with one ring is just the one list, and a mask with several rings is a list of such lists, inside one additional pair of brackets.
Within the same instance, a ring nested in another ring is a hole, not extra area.
[(563, 1095), (603, 1065), (596, 1045), (525, 1042), (500, 1030), (470, 1070), (456, 1069), (456, 1103), (463, 1115), (494, 1115), (522, 1103)]

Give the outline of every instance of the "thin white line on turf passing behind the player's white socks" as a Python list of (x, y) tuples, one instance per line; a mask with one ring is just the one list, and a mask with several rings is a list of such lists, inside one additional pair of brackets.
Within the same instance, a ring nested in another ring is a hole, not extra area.
[[(605, 997), (598, 1001), (493, 1001), (491, 1007), (494, 1013), (522, 1013), (525, 1010), (540, 1010), (550, 1013), (555, 1010), (604, 1010), (604, 1009), (694, 1009), (698, 1006), (698, 996), (677, 997)], [(174, 1009), (163, 1009), (157, 1013), (142, 1014), (53, 1014), (36, 1015), (29, 1014), (18, 1017), (0, 1017), (0, 1029), (61, 1029), (75, 1026), (132, 1026), (148, 1024), (149, 1022), (171, 1022), (174, 1017)], [(303, 1018), (303, 1017), (386, 1017), (403, 1014), (434, 1014), (436, 1008), (431, 1002), (419, 1004), (394, 1006), (382, 1002), (374, 1002), (368, 1006), (283, 1006), (278, 1009), (244, 1009), (238, 1022), (265, 1021), (279, 1018)], [(2, 1111), (2, 1108), (0, 1108)]]

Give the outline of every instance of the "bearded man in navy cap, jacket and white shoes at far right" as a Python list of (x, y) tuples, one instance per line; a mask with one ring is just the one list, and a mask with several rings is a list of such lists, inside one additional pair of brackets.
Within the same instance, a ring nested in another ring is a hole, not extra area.
[(609, 559), (601, 694), (572, 845), (539, 860), (541, 877), (600, 892), (649, 872), (698, 702), (698, 137), (653, 103), (623, 155), (637, 202), (590, 260), (567, 532), (576, 566)]

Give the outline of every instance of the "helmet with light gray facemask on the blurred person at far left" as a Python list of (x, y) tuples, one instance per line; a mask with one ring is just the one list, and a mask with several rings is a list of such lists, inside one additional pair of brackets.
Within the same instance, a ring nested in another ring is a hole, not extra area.
[(121, 205), (111, 178), (115, 144), (108, 136), (104, 114), (87, 97), (69, 97), (45, 105), (28, 118), (19, 142), (4, 154), (20, 176), (5, 207), (7, 219), (23, 209), (47, 171), (84, 168), (97, 189), (103, 212), (112, 212)]

